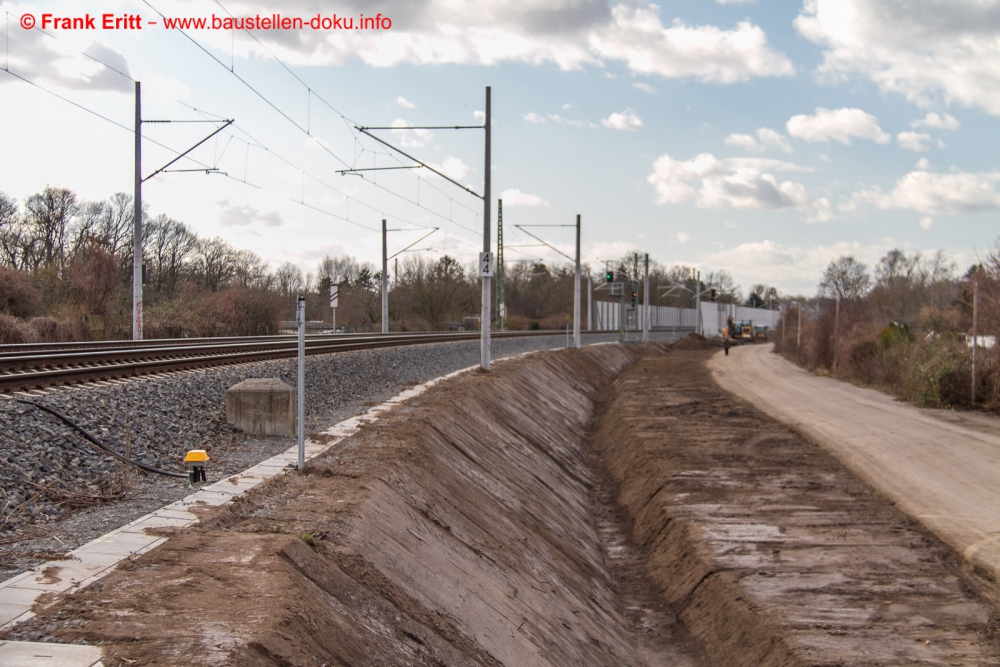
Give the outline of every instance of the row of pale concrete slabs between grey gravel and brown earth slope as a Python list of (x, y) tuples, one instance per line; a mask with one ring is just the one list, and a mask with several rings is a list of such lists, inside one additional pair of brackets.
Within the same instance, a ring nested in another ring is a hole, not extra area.
[[(522, 352), (495, 359), (494, 363), (519, 359), (537, 353), (538, 350)], [(344, 438), (357, 433), (362, 427), (377, 421), (383, 413), (420, 396), (431, 387), (477, 368), (478, 366), (469, 366), (415, 385), (384, 403), (369, 408), (363, 414), (331, 426), (322, 431), (321, 435), (332, 436), (334, 439), (325, 443), (306, 441), (306, 459), (319, 456), (339, 444)], [(189, 526), (197, 522), (198, 517), (189, 512), (188, 508), (199, 505), (218, 507), (232, 502), (234, 498), (261, 482), (295, 469), (297, 462), (298, 446), (296, 445), (237, 475), (213, 482), (179, 501), (139, 517), (117, 530), (74, 549), (69, 553), (70, 559), (50, 561), (45, 565), (0, 582), (0, 630), (13, 627), (34, 617), (35, 614), (31, 609), (41, 594), (73, 594), (107, 575), (118, 563), (155, 549), (166, 541), (167, 538), (147, 534), (145, 532), (147, 528), (183, 528)], [(235, 484), (230, 481), (234, 478), (236, 479)], [(46, 575), (46, 571), (55, 573), (57, 576)], [(39, 653), (32, 648), (34, 646), (45, 647), (45, 650)], [(63, 651), (63, 649), (68, 650)], [(31, 662), (24, 656), (34, 656), (31, 659), (36, 660), (36, 662)], [(0, 665), (34, 667), (36, 664), (58, 664), (65, 667), (76, 667), (77, 665), (80, 667), (100, 667), (100, 659), (100, 649), (92, 646), (0, 641)], [(39, 660), (41, 662), (38, 662)], [(90, 662), (86, 662), (86, 660), (90, 660)]]

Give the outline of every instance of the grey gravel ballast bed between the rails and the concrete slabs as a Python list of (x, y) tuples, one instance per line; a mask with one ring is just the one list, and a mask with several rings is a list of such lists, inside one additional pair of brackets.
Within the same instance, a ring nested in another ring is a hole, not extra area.
[[(654, 339), (670, 334), (654, 334)], [(617, 340), (587, 335), (585, 343)], [(563, 347), (562, 336), (494, 339), (493, 356)], [(407, 386), (478, 365), (479, 342), (436, 343), (306, 358), (307, 433), (385, 401)], [(90, 384), (33, 396), (134, 460), (186, 472), (184, 453), (206, 449), (208, 481), (282, 452), (292, 438), (251, 437), (226, 423), (226, 389), (247, 378), (295, 386), (294, 359)], [(128, 436), (128, 438), (126, 437)], [(186, 479), (138, 474), (124, 498), (68, 509), (40, 487), (91, 496), (122, 492), (123, 466), (52, 415), (0, 400), (0, 579), (65, 553), (191, 492)], [(34, 485), (37, 486), (33, 486)]]

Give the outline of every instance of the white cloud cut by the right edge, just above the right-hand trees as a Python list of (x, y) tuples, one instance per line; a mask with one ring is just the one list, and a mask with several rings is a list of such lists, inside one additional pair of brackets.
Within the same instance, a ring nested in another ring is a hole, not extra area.
[(844, 206), (852, 210), (868, 205), (880, 210), (908, 210), (927, 215), (954, 215), (1000, 210), (1000, 192), (996, 184), (1000, 172), (948, 174), (911, 171), (900, 178), (889, 192), (866, 188), (855, 192)]

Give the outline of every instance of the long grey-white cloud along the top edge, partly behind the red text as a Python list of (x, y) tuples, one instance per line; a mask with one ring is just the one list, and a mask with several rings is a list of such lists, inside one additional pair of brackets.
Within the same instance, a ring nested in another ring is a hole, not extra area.
[[(163, 0), (164, 11), (210, 15), (189, 3)], [(351, 2), (360, 7), (364, 3)], [(273, 9), (264, 0), (244, 0), (241, 13)], [(313, 0), (288, 0), (288, 15), (315, 14)], [(749, 20), (733, 27), (664, 25), (660, 7), (649, 0), (412, 0), (385, 6), (393, 21), (386, 31), (266, 31), (235, 46), (237, 57), (273, 52), (293, 65), (339, 65), (358, 59), (373, 67), (400, 64), (554, 64), (562, 70), (624, 63), (632, 74), (733, 83), (794, 73), (784, 53)], [(366, 12), (367, 13), (367, 12)], [(350, 14), (346, 11), (344, 14)], [(196, 33), (203, 42), (229, 52), (221, 31)], [(608, 72), (606, 69), (605, 72)]]

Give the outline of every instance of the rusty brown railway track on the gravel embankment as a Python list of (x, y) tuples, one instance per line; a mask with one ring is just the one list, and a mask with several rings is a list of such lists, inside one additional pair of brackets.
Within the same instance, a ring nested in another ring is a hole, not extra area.
[[(564, 331), (491, 333), (494, 338), (565, 335)], [(314, 335), (306, 337), (306, 354), (478, 339), (478, 331)], [(0, 393), (265, 361), (297, 352), (295, 336), (6, 345), (0, 346)]]

